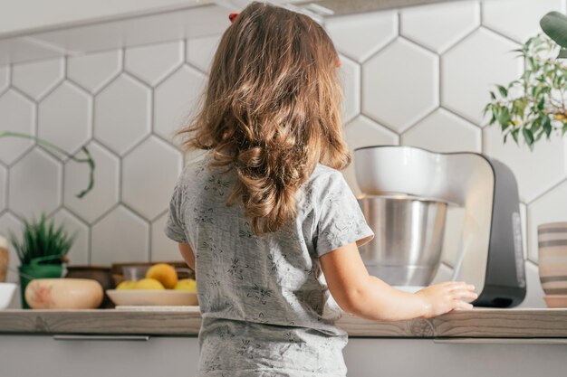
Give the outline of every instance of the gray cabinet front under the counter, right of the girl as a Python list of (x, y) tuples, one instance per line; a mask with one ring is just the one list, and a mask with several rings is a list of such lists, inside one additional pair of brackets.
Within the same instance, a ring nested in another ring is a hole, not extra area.
[(558, 377), (567, 339), (351, 338), (349, 377)]

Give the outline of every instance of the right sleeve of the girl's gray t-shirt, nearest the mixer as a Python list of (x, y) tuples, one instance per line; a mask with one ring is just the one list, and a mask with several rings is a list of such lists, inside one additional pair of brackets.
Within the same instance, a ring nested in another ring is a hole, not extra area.
[(316, 205), (319, 216), (314, 244), (320, 257), (352, 242), (361, 246), (374, 238), (374, 232), (341, 173), (333, 172), (318, 185)]

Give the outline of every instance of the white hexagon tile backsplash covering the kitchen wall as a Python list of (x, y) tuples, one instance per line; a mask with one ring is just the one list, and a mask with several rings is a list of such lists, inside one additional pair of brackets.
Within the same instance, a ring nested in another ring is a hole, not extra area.
[[(566, 0), (467, 0), (325, 20), (341, 54), (349, 146), (475, 151), (503, 161), (520, 186), (526, 256), (537, 262), (537, 225), (567, 221), (567, 140), (541, 141), (533, 152), (504, 145), (482, 109), (495, 83), (524, 69), (511, 50), (539, 31), (543, 13), (566, 8)], [(88, 143), (98, 167), (94, 190), (78, 199), (84, 166), (32, 141), (0, 139), (0, 231), (46, 211), (79, 231), (76, 263), (177, 258), (162, 232), (168, 196), (198, 154), (183, 158), (172, 137), (194, 114), (219, 38), (0, 67), (0, 130), (70, 150)], [(353, 167), (344, 174), (359, 193)], [(447, 251), (447, 276), (452, 257)], [(530, 264), (532, 280), (536, 270)]]

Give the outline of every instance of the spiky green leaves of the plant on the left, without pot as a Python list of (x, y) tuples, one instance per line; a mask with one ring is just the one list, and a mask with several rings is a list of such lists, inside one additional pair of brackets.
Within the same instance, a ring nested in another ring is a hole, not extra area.
[(39, 221), (24, 220), (24, 232), (20, 242), (13, 231), (9, 232), (10, 242), (22, 265), (33, 259), (53, 257), (45, 264), (62, 263), (62, 258), (71, 250), (76, 234), (68, 235), (62, 226), (55, 227), (53, 220), (42, 214)]

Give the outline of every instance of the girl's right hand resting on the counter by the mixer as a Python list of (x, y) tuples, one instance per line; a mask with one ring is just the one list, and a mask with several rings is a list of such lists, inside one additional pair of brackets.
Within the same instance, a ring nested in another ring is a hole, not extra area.
[(423, 318), (441, 316), (455, 309), (472, 309), (466, 299), (476, 299), (475, 286), (464, 281), (447, 281), (425, 287), (416, 294), (422, 301)]

